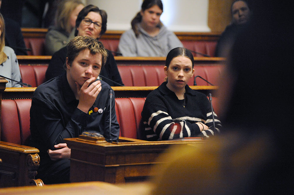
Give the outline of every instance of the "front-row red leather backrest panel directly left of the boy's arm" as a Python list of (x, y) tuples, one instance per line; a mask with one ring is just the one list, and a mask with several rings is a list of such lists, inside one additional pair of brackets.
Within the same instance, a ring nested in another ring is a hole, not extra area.
[(21, 145), (26, 145), (30, 135), (31, 99), (15, 99), (19, 118)]

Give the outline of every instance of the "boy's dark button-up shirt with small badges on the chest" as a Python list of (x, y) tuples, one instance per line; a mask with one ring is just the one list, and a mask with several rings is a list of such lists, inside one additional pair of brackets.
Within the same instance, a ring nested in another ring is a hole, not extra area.
[[(67, 82), (66, 74), (37, 87), (30, 110), (30, 145), (40, 150), (42, 161), (44, 158), (50, 160), (46, 152), (48, 149), (54, 150), (54, 145), (64, 143), (64, 138), (76, 138), (83, 131), (96, 131), (109, 138), (109, 94), (114, 94), (114, 91), (106, 82), (101, 81), (101, 84), (102, 89), (88, 113), (77, 108), (79, 101)], [(111, 138), (118, 140), (114, 95), (111, 121)]]

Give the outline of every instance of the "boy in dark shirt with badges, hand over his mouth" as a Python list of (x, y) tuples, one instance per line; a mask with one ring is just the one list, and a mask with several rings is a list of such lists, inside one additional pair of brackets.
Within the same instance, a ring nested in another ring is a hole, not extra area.
[(117, 141), (120, 131), (114, 95), (112, 100), (109, 96), (114, 91), (97, 79), (107, 58), (103, 44), (88, 36), (76, 36), (68, 43), (67, 51), (66, 73), (41, 84), (32, 98), (29, 145), (40, 150), (37, 177), (44, 184), (70, 182), (71, 149), (64, 138), (94, 131), (106, 141)]

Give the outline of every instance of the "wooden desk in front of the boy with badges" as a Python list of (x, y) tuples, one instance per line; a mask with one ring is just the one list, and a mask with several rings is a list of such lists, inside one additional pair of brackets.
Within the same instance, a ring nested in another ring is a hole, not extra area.
[(78, 138), (64, 140), (71, 148), (71, 182), (138, 182), (155, 176), (158, 155), (172, 145), (202, 144), (203, 140), (148, 142), (120, 137), (119, 143), (91, 143)]

